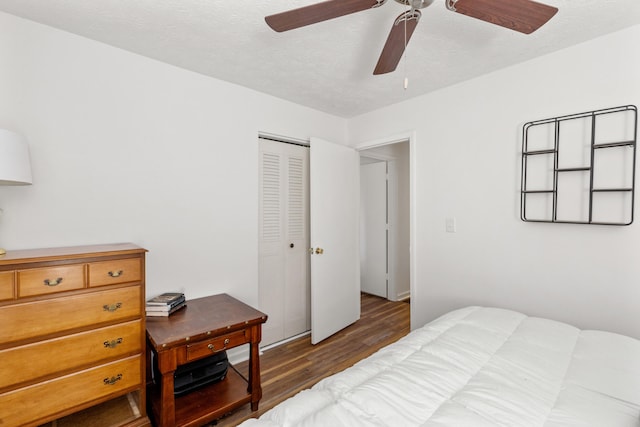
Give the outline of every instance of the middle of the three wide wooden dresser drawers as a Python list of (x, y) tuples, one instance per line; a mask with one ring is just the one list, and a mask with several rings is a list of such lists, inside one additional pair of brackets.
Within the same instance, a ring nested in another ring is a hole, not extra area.
[[(134, 320), (1, 350), (0, 390), (57, 372), (142, 353), (141, 323)], [(51, 359), (43, 355), (62, 357)]]

